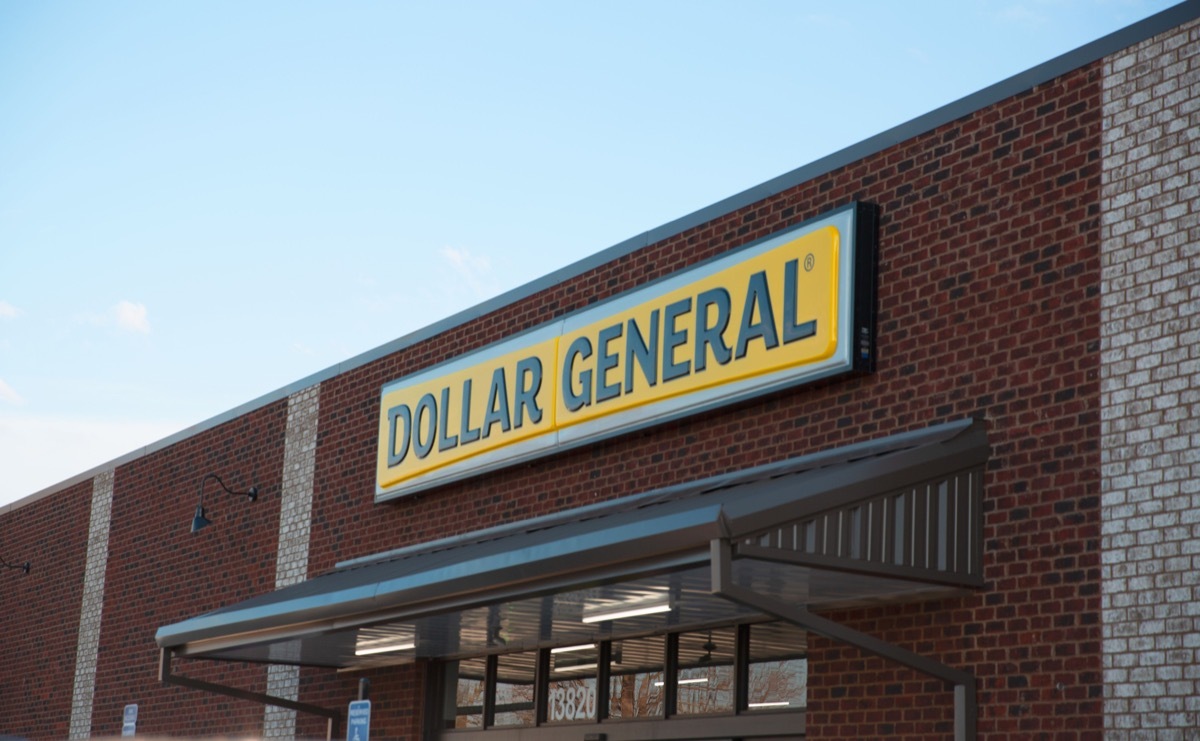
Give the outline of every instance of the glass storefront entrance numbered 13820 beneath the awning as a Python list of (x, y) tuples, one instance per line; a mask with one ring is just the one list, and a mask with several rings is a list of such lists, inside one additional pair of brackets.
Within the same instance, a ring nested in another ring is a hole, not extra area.
[[(694, 739), (803, 733), (804, 631), (714, 626), (440, 664), (442, 739)], [(647, 730), (650, 730), (649, 735)]]

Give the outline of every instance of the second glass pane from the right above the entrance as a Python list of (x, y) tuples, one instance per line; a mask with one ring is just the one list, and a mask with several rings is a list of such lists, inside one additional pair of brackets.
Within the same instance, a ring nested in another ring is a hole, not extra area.
[(679, 634), (676, 712), (733, 712), (737, 628)]

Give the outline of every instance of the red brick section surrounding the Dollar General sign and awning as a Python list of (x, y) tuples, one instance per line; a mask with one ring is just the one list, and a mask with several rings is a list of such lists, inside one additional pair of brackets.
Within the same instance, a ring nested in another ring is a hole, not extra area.
[[(835, 618), (976, 673), (984, 737), (1098, 737), (1098, 76), (1072, 73), (324, 382), (311, 571), (983, 415), (986, 590)], [(852, 199), (882, 206), (874, 375), (372, 504), (384, 382)], [(820, 639), (810, 667), (812, 737), (950, 733), (953, 695), (937, 682)]]

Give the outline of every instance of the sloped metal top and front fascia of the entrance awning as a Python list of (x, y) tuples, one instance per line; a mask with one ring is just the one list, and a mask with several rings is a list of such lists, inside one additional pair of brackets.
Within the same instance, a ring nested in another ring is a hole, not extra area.
[(625, 579), (666, 565), (702, 564), (713, 540), (736, 537), (797, 507), (811, 510), (805, 500), (821, 505), (832, 492), (845, 498), (856, 488), (854, 498), (869, 496), (892, 487), (902, 468), (910, 477), (929, 466), (962, 468), (971, 463), (964, 454), (986, 457), (982, 422), (950, 422), (631, 498), (640, 506), (617, 500), (610, 514), (581, 507), (562, 513), (558, 524), (518, 523), (512, 532), (485, 540), (468, 534), (460, 546), (443, 542), (343, 568), (163, 626), (155, 640), (163, 647), (235, 635), (250, 640), (288, 626), (355, 622), (397, 610), (428, 614), (595, 583), (600, 573)]

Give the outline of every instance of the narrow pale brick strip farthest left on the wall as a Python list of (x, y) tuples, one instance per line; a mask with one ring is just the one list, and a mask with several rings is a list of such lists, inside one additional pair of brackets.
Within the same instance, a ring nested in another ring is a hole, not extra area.
[(104, 612), (104, 573), (108, 568), (108, 531), (112, 513), (113, 471), (104, 471), (92, 478), (88, 564), (84, 567), (74, 691), (71, 700), (71, 739), (91, 737), (91, 706), (96, 694), (96, 655), (100, 651), (100, 625)]

